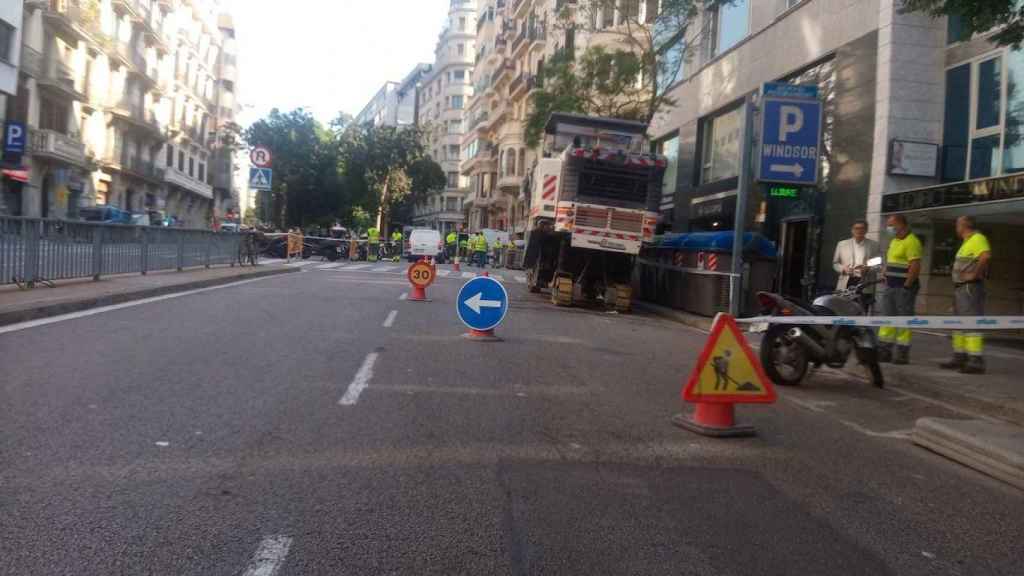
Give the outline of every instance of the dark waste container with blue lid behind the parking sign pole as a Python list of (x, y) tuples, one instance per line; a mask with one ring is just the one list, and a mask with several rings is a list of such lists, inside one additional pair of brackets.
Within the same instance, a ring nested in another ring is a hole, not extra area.
[[(732, 232), (710, 232), (690, 234), (682, 241), (686, 268), (694, 269), (687, 275), (683, 306), (687, 312), (712, 317), (729, 311), (728, 273), (732, 272)], [(760, 234), (743, 235), (741, 314), (757, 310), (758, 291), (771, 290), (775, 258), (773, 242)]]

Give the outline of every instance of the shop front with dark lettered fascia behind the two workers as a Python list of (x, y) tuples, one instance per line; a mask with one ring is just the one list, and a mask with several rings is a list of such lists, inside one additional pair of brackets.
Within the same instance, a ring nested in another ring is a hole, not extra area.
[(986, 312), (1024, 313), (1024, 174), (952, 182), (890, 194), (883, 198), (886, 215), (903, 214), (925, 245), (920, 314), (950, 314), (950, 273), (961, 241), (954, 225), (974, 216), (992, 246)]

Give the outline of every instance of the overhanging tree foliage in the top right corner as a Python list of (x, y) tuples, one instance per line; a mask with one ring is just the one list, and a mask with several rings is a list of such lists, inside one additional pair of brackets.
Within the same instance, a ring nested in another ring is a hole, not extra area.
[(968, 35), (1000, 28), (992, 41), (1019, 48), (1024, 41), (1024, 4), (1019, 0), (901, 0), (902, 12), (957, 16)]

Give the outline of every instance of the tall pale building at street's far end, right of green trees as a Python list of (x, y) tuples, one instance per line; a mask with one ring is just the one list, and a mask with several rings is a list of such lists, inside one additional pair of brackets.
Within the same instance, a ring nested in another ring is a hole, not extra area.
[(427, 150), (444, 170), (447, 184), (416, 205), (413, 224), (442, 235), (465, 223), (463, 203), (468, 178), (460, 172), (466, 105), (473, 96), (476, 57), (476, 0), (452, 0), (444, 28), (437, 38), (434, 63), (419, 89), (419, 125)]

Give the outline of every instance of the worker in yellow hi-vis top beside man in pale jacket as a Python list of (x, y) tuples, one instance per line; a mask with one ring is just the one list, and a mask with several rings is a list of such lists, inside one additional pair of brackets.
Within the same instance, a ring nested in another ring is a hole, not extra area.
[[(913, 316), (921, 289), (921, 257), (924, 247), (910, 232), (906, 216), (889, 216), (886, 231), (893, 237), (886, 255), (886, 291), (882, 295), (884, 316)], [(910, 329), (885, 326), (879, 330), (882, 345), (879, 362), (910, 363)], [(896, 346), (895, 354), (893, 346)]]

